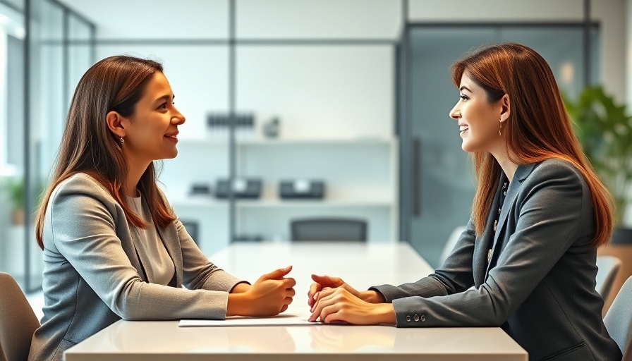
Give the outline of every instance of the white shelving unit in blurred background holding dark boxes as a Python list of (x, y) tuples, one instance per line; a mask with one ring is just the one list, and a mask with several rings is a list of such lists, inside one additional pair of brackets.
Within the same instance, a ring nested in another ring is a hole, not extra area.
[[(237, 174), (261, 178), (263, 185), (259, 199), (236, 202), (236, 235), (287, 241), (293, 218), (344, 216), (368, 221), (369, 242), (396, 240), (398, 147), (393, 138), (238, 140)], [(181, 140), (178, 150), (177, 163), (165, 164), (161, 176), (165, 192), (182, 219), (200, 224), (202, 250), (219, 250), (228, 244), (227, 228), (209, 221), (228, 217), (228, 201), (188, 195), (188, 190), (193, 183), (213, 188), (217, 178), (226, 177), (228, 142)], [(200, 154), (207, 154), (203, 164), (208, 166), (199, 166)], [(323, 180), (324, 199), (281, 199), (279, 181), (296, 178)]]

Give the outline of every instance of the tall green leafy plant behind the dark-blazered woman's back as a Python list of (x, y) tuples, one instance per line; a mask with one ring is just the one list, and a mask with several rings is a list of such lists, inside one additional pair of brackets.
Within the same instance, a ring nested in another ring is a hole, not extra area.
[(599, 85), (585, 87), (576, 101), (564, 97), (566, 111), (593, 169), (616, 203), (613, 242), (632, 242), (624, 215), (632, 185), (632, 117)]

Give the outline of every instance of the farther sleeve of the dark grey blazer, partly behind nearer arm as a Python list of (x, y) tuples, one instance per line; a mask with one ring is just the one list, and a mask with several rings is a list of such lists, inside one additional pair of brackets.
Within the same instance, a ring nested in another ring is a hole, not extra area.
[(434, 274), (413, 283), (403, 283), (399, 286), (374, 286), (370, 290), (382, 293), (387, 302), (411, 296), (429, 298), (463, 292), (474, 285), (472, 256), (475, 238), (474, 224), (470, 219), (466, 230), (461, 233), (454, 245), (454, 249)]

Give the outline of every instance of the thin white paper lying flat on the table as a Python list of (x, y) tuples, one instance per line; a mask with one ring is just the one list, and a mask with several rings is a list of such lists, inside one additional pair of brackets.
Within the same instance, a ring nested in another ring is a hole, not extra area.
[(310, 313), (284, 313), (273, 317), (231, 316), (226, 319), (181, 319), (178, 327), (217, 326), (309, 326), (320, 322), (309, 322)]

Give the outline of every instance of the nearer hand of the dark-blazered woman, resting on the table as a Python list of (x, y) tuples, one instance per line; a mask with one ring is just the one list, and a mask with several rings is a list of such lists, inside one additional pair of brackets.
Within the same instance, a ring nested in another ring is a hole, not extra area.
[(369, 303), (344, 288), (327, 288), (315, 295), (314, 312), (309, 321), (326, 324), (396, 324), (390, 303)]

